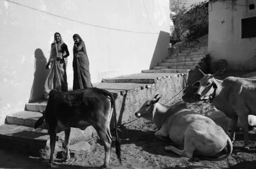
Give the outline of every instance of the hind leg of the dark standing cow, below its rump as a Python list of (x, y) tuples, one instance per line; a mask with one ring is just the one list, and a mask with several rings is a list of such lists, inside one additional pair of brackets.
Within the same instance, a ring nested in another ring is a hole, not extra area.
[(103, 141), (105, 149), (105, 161), (102, 169), (108, 169), (109, 167), (112, 138), (108, 135), (108, 132), (110, 133), (110, 131), (107, 131), (108, 129), (108, 127), (100, 127), (99, 129), (96, 129), (99, 138)]

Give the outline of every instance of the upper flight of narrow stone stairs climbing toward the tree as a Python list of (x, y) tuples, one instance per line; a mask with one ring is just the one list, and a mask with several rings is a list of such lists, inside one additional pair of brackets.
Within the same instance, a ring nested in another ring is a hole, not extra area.
[(168, 57), (153, 66), (145, 73), (186, 72), (197, 69), (205, 57), (208, 56), (208, 34), (192, 42), (178, 42), (173, 47), (168, 47)]

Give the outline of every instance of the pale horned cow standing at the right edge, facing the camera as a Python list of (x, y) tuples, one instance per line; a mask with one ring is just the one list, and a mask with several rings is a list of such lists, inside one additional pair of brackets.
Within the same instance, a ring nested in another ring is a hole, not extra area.
[[(200, 69), (198, 70), (204, 74)], [(256, 115), (256, 79), (227, 77), (224, 80), (218, 80), (214, 78), (216, 74), (204, 74), (200, 81), (192, 85), (198, 87), (195, 98), (212, 98), (214, 106), (234, 121), (231, 130), (232, 142), (235, 140), (239, 117), (244, 132), (243, 149), (248, 150), (250, 149), (248, 115)]]

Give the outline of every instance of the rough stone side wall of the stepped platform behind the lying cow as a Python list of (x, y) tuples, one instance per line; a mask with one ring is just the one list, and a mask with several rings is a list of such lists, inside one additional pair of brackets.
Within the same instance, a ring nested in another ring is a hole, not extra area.
[[(146, 100), (151, 99), (155, 95), (159, 94), (160, 103), (166, 103), (172, 97), (177, 95), (187, 84), (189, 73), (176, 74), (175, 76), (162, 77), (156, 80), (156, 83), (148, 86), (144, 89), (134, 89), (131, 92), (127, 92), (124, 95), (120, 94), (116, 97), (116, 112), (118, 125), (125, 123), (129, 120), (135, 119), (135, 112), (140, 109), (140, 106), (145, 103)], [(170, 104), (177, 97), (183, 95), (181, 92), (174, 99), (166, 103)], [(113, 118), (111, 121), (113, 126)]]

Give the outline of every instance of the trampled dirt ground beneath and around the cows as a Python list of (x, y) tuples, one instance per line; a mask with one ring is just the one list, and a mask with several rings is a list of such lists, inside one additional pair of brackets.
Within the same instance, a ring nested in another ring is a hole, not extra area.
[[(244, 74), (244, 73), (243, 73)], [(233, 76), (240, 76), (232, 74)], [(225, 76), (228, 76), (227, 74)], [(224, 77), (225, 77), (224, 76)], [(222, 77), (221, 77), (222, 78)], [(195, 101), (192, 97), (184, 97), (189, 109), (203, 114), (211, 109), (213, 104), (209, 100)], [(154, 137), (155, 125), (153, 122), (142, 119), (132, 123), (119, 132), (122, 140), (122, 165), (119, 165), (115, 147), (111, 150), (111, 169), (256, 169), (256, 131), (250, 131), (250, 150), (241, 151), (243, 135), (237, 135), (233, 144), (233, 153), (226, 160), (209, 161), (203, 157), (199, 162), (192, 162), (188, 158), (173, 153), (164, 152), (168, 143)], [(115, 136), (115, 135), (113, 135)], [(61, 155), (55, 158), (53, 168), (58, 169), (99, 169), (104, 162), (104, 148), (97, 140), (89, 142), (90, 152), (72, 152), (70, 161), (64, 162)], [(114, 145), (114, 144), (113, 144)], [(46, 169), (49, 157), (33, 157), (18, 152), (15, 149), (0, 149), (0, 168), (4, 169)]]

